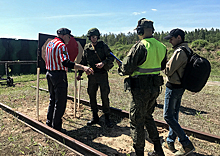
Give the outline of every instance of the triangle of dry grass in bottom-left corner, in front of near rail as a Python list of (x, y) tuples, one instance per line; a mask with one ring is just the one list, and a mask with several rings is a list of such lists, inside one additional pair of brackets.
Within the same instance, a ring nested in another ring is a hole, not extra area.
[[(71, 151), (0, 109), (0, 155), (66, 155)], [(46, 139), (46, 141), (44, 141)], [(42, 141), (43, 140), (43, 141)], [(42, 144), (43, 143), (43, 144)]]

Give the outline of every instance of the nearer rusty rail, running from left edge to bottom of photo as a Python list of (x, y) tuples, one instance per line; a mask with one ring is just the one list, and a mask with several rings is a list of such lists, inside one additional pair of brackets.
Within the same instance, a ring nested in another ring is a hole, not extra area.
[(10, 108), (7, 105), (0, 103), (0, 108), (8, 112), (9, 114), (12, 114), (17, 119), (25, 122), (25, 124), (30, 126), (31, 128), (40, 131), (41, 133), (46, 134), (49, 137), (52, 137), (60, 144), (67, 146), (69, 149), (72, 149), (77, 154), (80, 153), (82, 155), (89, 155), (89, 156), (107, 156), (104, 153), (101, 153), (98, 150), (93, 149), (87, 146), (86, 144), (83, 144), (82, 142), (79, 142), (78, 140), (73, 139), (39, 121), (36, 121), (18, 111), (14, 111), (12, 108)]

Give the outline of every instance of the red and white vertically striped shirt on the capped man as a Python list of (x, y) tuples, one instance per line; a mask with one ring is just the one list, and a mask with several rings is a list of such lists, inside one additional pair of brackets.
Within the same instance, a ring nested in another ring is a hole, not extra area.
[(62, 62), (67, 59), (69, 59), (67, 47), (60, 38), (56, 37), (47, 44), (45, 55), (47, 70), (68, 71), (68, 68), (62, 65)]

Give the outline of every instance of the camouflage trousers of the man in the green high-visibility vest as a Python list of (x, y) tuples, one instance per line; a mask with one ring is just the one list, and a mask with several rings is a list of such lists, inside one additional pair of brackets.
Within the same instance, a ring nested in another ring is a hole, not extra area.
[(133, 147), (137, 150), (144, 149), (146, 130), (152, 141), (159, 139), (159, 133), (152, 116), (156, 106), (156, 99), (159, 96), (159, 87), (151, 87), (151, 89), (147, 90), (131, 89), (130, 132), (133, 139)]

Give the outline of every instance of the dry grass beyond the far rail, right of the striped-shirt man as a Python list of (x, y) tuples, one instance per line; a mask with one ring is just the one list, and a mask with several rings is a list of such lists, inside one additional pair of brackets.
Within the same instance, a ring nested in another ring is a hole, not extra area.
[[(109, 95), (110, 105), (122, 110), (129, 111), (131, 95), (123, 90), (124, 77), (118, 76), (115, 72), (109, 74), (109, 83), (111, 92)], [(85, 76), (85, 75), (84, 75)], [(74, 76), (69, 74), (69, 94), (74, 95)], [(87, 78), (84, 77), (81, 90), (81, 98), (89, 99), (86, 93)], [(155, 109), (154, 116), (156, 119), (163, 121), (163, 102), (164, 102), (165, 86), (162, 93), (158, 97), (158, 107)], [(97, 95), (98, 103), (101, 103), (100, 93)], [(185, 127), (200, 130), (220, 136), (220, 88), (219, 86), (205, 86), (199, 93), (185, 91), (180, 113), (180, 124)], [(190, 122), (187, 122), (190, 121)], [(190, 125), (188, 124), (190, 123)], [(210, 128), (213, 128), (210, 132)]]

